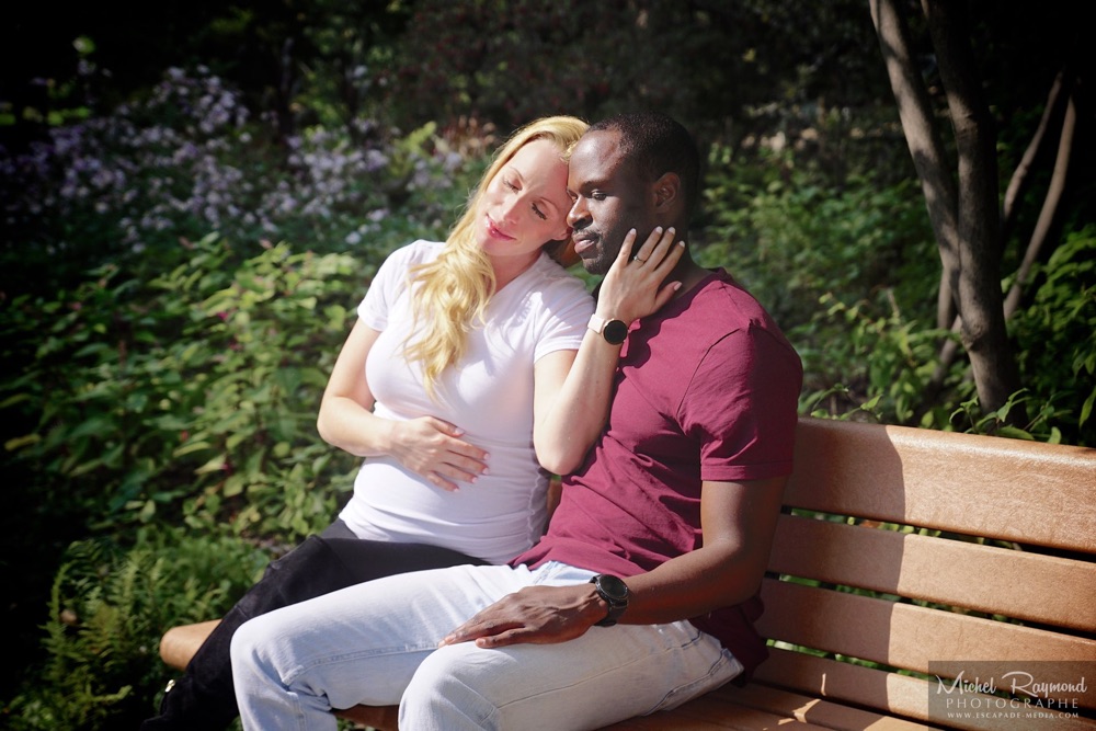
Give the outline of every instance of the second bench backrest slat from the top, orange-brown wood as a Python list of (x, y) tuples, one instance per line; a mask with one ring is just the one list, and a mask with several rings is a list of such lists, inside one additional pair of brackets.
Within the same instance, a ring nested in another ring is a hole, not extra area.
[(1085, 561), (783, 515), (769, 570), (1015, 619), (1096, 629), (1096, 563)]

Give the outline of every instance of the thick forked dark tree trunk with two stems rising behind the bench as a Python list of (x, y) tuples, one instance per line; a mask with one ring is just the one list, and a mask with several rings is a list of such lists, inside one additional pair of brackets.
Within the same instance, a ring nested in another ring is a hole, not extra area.
[[(869, 0), (869, 5), (936, 233), (944, 265), (941, 295), (947, 283), (979, 401), (983, 410), (994, 411), (1020, 384), (1001, 292), (996, 135), (981, 93), (964, 5), (923, 0), (959, 156), (958, 187), (945, 163), (932, 104), (910, 55), (909, 30), (895, 0)], [(944, 307), (937, 319), (939, 327), (950, 323)], [(1021, 411), (1009, 414), (1024, 419)]]

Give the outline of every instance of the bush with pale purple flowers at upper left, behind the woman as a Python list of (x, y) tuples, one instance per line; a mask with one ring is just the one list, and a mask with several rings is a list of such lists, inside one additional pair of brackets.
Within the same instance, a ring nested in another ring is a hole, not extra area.
[(433, 124), (354, 118), (278, 140), (255, 116), (209, 69), (173, 68), (109, 114), (0, 146), (0, 292), (50, 296), (103, 264), (155, 276), (208, 231), (243, 255), (265, 240), (390, 250), (444, 231), (481, 169)]

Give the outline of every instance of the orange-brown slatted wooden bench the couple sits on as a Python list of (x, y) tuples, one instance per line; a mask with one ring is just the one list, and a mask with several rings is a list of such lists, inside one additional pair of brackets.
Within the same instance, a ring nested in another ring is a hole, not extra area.
[[(1096, 449), (801, 419), (769, 572), (751, 683), (610, 728), (1096, 729)], [(209, 629), (170, 630), (164, 661)], [(974, 685), (1012, 672), (1077, 687)]]

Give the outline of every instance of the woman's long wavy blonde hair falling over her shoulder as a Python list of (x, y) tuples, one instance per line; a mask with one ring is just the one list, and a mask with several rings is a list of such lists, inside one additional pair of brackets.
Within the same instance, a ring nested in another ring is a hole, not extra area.
[[(494, 153), (437, 259), (411, 271), (411, 285), (418, 285), (412, 296), (414, 321), (418, 324), (422, 319), (426, 327), (418, 342), (406, 345), (404, 354), (408, 361), (422, 364), (423, 385), (431, 398), (442, 373), (464, 356), (468, 332), (473, 322), (483, 321), (483, 312), (494, 294), (494, 270), (475, 238), (480, 196), (525, 145), (547, 139), (559, 148), (560, 159), (566, 161), (586, 126), (578, 117), (541, 117), (511, 135)], [(553, 256), (566, 255), (567, 241), (545, 243), (550, 245)], [(412, 333), (415, 330), (412, 328)]]

